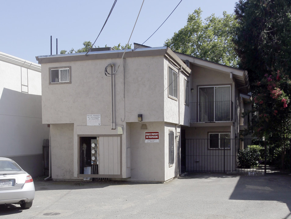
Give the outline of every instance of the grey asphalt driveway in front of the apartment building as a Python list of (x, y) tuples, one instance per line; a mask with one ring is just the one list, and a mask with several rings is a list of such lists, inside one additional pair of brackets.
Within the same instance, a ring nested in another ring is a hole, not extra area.
[[(30, 209), (9, 218), (290, 218), (291, 176), (188, 174), (163, 184), (34, 181)], [(3, 217), (4, 218), (4, 217)]]

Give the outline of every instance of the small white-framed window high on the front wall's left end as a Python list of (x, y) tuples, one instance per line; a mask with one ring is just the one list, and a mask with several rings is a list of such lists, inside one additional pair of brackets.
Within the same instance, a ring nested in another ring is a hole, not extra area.
[(70, 84), (71, 83), (71, 67), (49, 68), (50, 84)]

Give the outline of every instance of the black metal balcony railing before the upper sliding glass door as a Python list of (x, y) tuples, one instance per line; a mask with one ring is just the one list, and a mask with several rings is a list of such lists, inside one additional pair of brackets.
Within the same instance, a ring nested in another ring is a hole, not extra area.
[(232, 101), (190, 103), (190, 123), (232, 121)]

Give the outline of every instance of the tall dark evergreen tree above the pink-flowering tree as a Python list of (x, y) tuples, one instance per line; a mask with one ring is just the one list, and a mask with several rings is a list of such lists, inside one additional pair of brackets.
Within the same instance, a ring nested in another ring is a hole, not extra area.
[[(239, 66), (257, 81), (266, 73), (291, 70), (291, 1), (239, 0), (234, 43)], [(289, 74), (290, 76), (290, 74)]]

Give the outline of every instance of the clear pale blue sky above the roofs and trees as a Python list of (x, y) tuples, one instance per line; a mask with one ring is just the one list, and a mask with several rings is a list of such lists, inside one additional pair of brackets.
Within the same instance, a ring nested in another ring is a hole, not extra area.
[[(60, 50), (77, 50), (84, 41), (95, 41), (114, 0), (7, 0), (1, 1), (0, 51), (37, 63), (35, 56)], [(180, 0), (145, 0), (130, 43), (143, 43), (163, 23)], [(201, 8), (203, 19), (232, 14), (237, 0), (182, 0), (163, 26), (145, 43), (160, 47), (187, 23), (189, 13)], [(95, 45), (104, 47), (128, 42), (142, 0), (117, 0)]]

